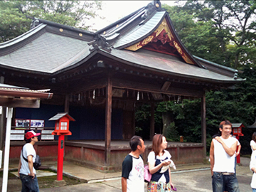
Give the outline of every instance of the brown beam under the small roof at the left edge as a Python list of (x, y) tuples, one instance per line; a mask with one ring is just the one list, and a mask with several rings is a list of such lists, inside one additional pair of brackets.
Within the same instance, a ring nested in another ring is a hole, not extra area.
[(4, 107), (39, 108), (40, 100), (0, 97), (0, 105)]

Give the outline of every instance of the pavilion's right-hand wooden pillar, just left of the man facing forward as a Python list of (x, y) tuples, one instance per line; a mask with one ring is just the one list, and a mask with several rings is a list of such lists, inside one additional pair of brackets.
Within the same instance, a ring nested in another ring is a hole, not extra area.
[(201, 98), (201, 130), (203, 143), (203, 156), (206, 158), (206, 93)]

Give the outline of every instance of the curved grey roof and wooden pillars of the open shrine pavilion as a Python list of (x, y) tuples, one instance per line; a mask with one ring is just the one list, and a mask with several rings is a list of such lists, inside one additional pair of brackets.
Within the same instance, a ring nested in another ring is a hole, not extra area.
[(206, 155), (205, 92), (242, 81), (238, 71), (191, 55), (160, 1), (95, 33), (33, 18), (30, 31), (0, 44), (0, 75), (17, 86), (50, 87), (53, 99), (43, 103), (64, 106), (68, 113), (71, 106), (105, 109), (105, 129), (89, 129), (105, 132), (106, 166), (110, 165), (112, 110), (122, 111), (122, 138), (117, 139), (129, 139), (135, 130), (134, 103), (150, 103), (152, 138), (155, 102), (201, 98)]

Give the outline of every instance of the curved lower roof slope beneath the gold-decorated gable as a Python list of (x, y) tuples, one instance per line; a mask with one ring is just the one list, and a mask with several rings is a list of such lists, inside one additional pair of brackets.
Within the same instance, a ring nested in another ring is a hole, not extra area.
[(129, 50), (112, 50), (111, 53), (107, 53), (105, 50), (101, 50), (99, 53), (136, 68), (164, 73), (166, 75), (174, 75), (181, 78), (215, 83), (235, 83), (244, 80), (241, 78), (230, 78), (205, 68), (198, 68), (196, 65), (188, 65), (178, 60), (178, 58), (170, 57), (170, 55), (162, 53), (151, 54), (149, 50), (137, 50), (136, 53)]

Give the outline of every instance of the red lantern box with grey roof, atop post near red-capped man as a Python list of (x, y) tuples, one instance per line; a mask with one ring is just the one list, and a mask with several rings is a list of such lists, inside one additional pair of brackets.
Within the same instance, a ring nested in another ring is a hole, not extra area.
[(67, 112), (58, 113), (51, 117), (49, 121), (55, 120), (55, 130), (52, 134), (55, 135), (71, 135), (69, 131), (69, 122), (75, 121)]

